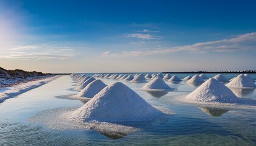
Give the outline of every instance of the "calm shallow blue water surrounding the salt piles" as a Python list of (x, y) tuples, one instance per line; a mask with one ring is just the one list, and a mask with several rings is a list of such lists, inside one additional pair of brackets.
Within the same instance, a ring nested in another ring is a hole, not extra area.
[[(232, 78), (235, 74), (225, 76)], [(255, 75), (251, 77), (255, 78)], [(101, 80), (106, 84), (116, 82)], [(123, 83), (152, 105), (169, 109), (175, 114), (156, 127), (120, 137), (95, 130), (54, 129), (44, 123), (30, 122), (31, 117), (47, 114), (49, 110), (84, 105), (80, 100), (56, 98), (76, 93), (69, 90), (74, 88), (71, 78), (63, 76), (0, 103), (0, 145), (256, 145), (255, 109), (219, 109), (175, 102), (174, 98), (197, 88), (184, 82), (166, 82), (176, 88), (170, 92), (146, 92), (140, 89), (146, 83)], [(233, 92), (242, 98), (256, 100), (255, 90)]]

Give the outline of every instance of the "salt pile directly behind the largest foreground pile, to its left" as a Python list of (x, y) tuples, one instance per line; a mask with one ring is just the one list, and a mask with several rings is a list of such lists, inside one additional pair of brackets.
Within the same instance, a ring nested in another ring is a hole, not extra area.
[(82, 89), (82, 91), (80, 91), (77, 96), (92, 98), (106, 86), (107, 85), (105, 85), (105, 83), (103, 83), (101, 80), (94, 80), (93, 82), (89, 83), (84, 89)]

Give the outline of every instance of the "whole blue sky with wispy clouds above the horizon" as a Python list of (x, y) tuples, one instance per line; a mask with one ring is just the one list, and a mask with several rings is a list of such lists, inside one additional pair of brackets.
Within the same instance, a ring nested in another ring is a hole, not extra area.
[(0, 62), (43, 72), (256, 68), (256, 1), (2, 1)]

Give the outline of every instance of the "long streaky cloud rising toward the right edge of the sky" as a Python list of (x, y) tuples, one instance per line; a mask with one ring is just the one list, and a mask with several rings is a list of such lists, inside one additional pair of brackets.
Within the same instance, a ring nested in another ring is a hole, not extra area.
[(174, 52), (228, 52), (236, 50), (256, 50), (256, 32), (238, 35), (235, 38), (218, 41), (208, 41), (187, 46), (177, 46), (169, 48), (157, 48), (147, 51), (124, 51), (120, 53), (104, 52), (102, 57), (138, 57), (144, 55), (168, 54)]

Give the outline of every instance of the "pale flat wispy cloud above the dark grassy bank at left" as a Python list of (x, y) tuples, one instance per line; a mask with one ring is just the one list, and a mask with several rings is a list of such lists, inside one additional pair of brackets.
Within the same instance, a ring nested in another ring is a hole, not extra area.
[(9, 54), (0, 58), (12, 60), (52, 60), (70, 59), (74, 57), (74, 50), (66, 46), (28, 45), (16, 46), (9, 49)]

